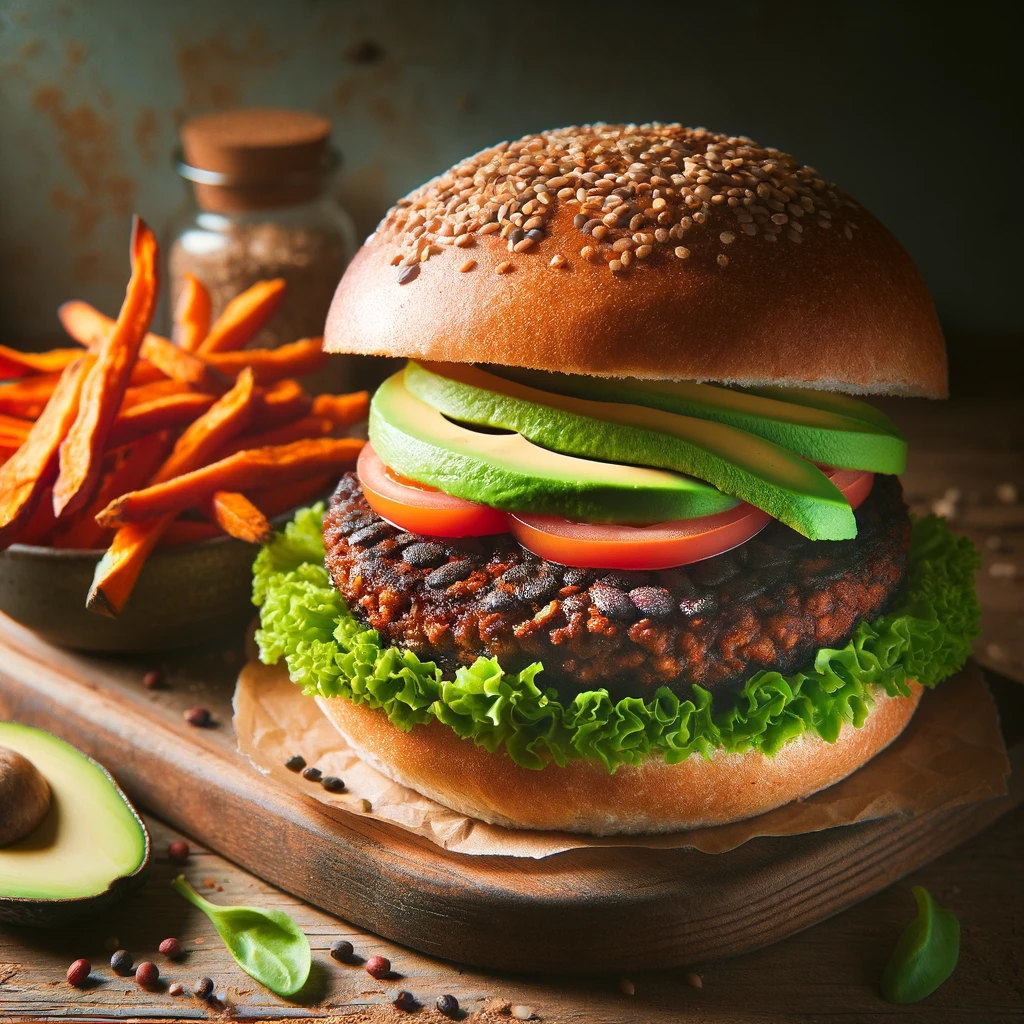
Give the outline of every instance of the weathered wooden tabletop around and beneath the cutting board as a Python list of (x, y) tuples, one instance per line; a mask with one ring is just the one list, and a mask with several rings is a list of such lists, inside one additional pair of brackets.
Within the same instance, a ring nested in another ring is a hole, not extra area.
[[(983, 636), (979, 659), (1024, 682), (1024, 417), (1010, 397), (948, 403), (887, 402), (911, 441), (904, 477), (915, 511), (945, 503), (953, 524), (982, 548), (979, 577)], [(1021, 495), (1009, 501), (1013, 484)], [(997, 567), (996, 567), (997, 566)], [(1024, 692), (1024, 691), (1022, 691)], [(508, 1022), (509, 1008), (525, 1007), (543, 1021), (680, 1021), (758, 1024), (780, 1021), (912, 1022), (1024, 1020), (1024, 809), (857, 906), (774, 946), (730, 961), (685, 970), (634, 972), (635, 993), (623, 978), (497, 975), (431, 959), (360, 932), (306, 906), (223, 859), (194, 850), (184, 871), (214, 901), (281, 906), (300, 923), (313, 948), (314, 970), (299, 1002), (275, 998), (233, 964), (206, 918), (169, 888), (179, 869), (166, 856), (175, 837), (150, 818), (153, 871), (145, 888), (101, 919), (61, 932), (0, 928), (0, 1019), (204, 1020), (308, 1019), (442, 1021), (432, 1009), (455, 994), (470, 1020)], [(266, 823), (273, 827), (272, 821)], [(911, 885), (927, 887), (962, 924), (959, 965), (926, 1001), (893, 1007), (878, 979), (902, 927), (913, 916)], [(453, 923), (453, 927), (458, 927)], [(495, 922), (495, 928), (501, 928)], [(160, 956), (160, 940), (175, 935), (185, 955)], [(376, 982), (358, 966), (327, 954), (348, 938), (362, 956), (388, 956), (399, 977)], [(114, 940), (136, 959), (153, 958), (167, 982), (186, 993), (209, 975), (218, 999), (172, 996), (164, 985), (142, 992), (106, 966)], [(614, 934), (606, 936), (614, 945)], [(68, 965), (86, 956), (97, 984), (83, 992), (63, 980)], [(388, 993), (404, 988), (423, 1005), (415, 1017), (391, 1008)]]

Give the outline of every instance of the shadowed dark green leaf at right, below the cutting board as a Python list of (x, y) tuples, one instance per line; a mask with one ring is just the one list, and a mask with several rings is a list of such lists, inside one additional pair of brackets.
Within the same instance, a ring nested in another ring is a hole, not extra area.
[(959, 922), (943, 910), (927, 889), (913, 887), (918, 916), (903, 930), (882, 974), (882, 994), (890, 1002), (916, 1002), (953, 973), (959, 956)]

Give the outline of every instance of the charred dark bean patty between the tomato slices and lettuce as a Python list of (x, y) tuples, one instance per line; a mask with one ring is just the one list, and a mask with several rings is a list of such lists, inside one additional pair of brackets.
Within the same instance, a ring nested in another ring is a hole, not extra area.
[(445, 675), (479, 655), (563, 699), (613, 698), (693, 683), (738, 689), (759, 669), (790, 673), (841, 646), (885, 610), (906, 570), (910, 521), (899, 481), (877, 476), (852, 541), (808, 541), (773, 522), (734, 550), (681, 568), (558, 565), (509, 534), (446, 540), (407, 534), (367, 505), (346, 474), (324, 522), (327, 567), (385, 643)]

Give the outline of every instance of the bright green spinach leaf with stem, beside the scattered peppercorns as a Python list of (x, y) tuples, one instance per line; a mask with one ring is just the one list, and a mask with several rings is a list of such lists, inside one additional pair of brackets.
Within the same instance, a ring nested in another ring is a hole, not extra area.
[(174, 890), (213, 922), (239, 967), (278, 995), (294, 995), (309, 977), (309, 940), (283, 910), (217, 906), (179, 874)]

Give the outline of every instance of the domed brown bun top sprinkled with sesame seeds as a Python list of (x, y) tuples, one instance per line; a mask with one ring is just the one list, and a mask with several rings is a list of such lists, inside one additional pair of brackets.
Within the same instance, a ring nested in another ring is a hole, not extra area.
[(502, 142), (399, 200), (346, 271), (331, 352), (943, 397), (899, 243), (811, 167), (678, 124)]

